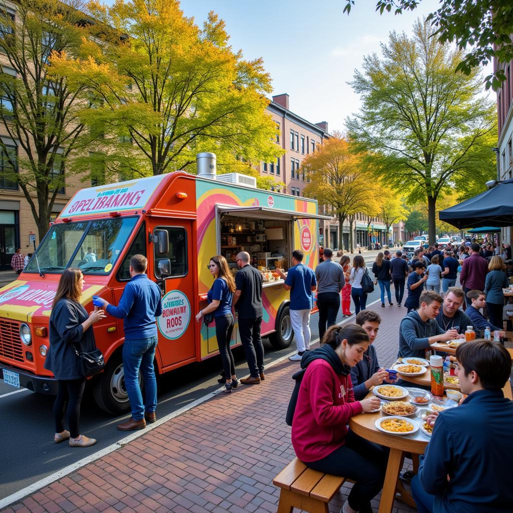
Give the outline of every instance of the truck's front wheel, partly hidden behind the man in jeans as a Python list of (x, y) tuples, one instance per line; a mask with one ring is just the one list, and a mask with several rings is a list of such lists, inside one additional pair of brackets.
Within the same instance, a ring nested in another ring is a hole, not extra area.
[[(139, 373), (139, 385), (143, 388), (141, 373)], [(121, 415), (130, 410), (121, 352), (113, 354), (105, 370), (96, 378), (93, 394), (96, 404), (107, 413)]]

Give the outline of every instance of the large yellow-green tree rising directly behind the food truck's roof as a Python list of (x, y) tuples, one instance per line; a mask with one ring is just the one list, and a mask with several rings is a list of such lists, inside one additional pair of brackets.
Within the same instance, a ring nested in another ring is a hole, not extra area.
[(82, 120), (102, 135), (95, 152), (107, 173), (194, 172), (196, 153), (213, 151), (220, 173), (251, 174), (250, 164), (283, 153), (266, 113), (263, 61), (234, 52), (213, 12), (199, 28), (176, 0), (92, 2), (89, 10), (101, 22), (92, 27), (98, 39), (58, 66), (91, 95)]

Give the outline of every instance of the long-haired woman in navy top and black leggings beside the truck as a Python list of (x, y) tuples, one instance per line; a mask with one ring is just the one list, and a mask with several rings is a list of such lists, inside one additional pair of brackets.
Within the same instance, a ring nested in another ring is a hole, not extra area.
[(228, 268), (228, 262), (221, 255), (212, 257), (208, 268), (214, 277), (214, 283), (207, 294), (209, 305), (200, 310), (198, 315), (196, 315), (196, 321), (201, 321), (205, 313), (213, 312), (215, 337), (218, 339), (219, 352), (226, 376), (225, 393), (230, 393), (232, 388), (239, 386), (235, 376), (235, 361), (230, 349), (231, 335), (235, 325), (235, 320), (231, 313), (231, 300), (235, 291), (235, 282)]

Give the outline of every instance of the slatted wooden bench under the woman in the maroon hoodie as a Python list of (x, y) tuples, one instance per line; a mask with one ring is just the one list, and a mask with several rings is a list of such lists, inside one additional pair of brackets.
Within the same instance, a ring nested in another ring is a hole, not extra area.
[(294, 458), (272, 482), (281, 488), (278, 513), (298, 508), (309, 513), (329, 513), (328, 503), (346, 479), (308, 468)]

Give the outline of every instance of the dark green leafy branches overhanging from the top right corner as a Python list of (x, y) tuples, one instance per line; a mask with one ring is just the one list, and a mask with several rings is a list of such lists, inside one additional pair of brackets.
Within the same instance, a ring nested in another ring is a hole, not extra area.
[[(376, 11), (412, 11), (422, 0), (377, 0)], [(354, 0), (346, 0), (344, 12), (349, 14)], [(486, 66), (496, 57), (499, 63), (509, 63), (513, 59), (513, 2), (511, 0), (440, 0), (440, 7), (429, 14), (431, 23), (440, 43), (455, 43), (462, 51), (456, 70), (470, 75), (480, 65)], [(497, 90), (506, 80), (504, 68), (498, 66), (494, 73), (485, 78), (486, 88)]]

